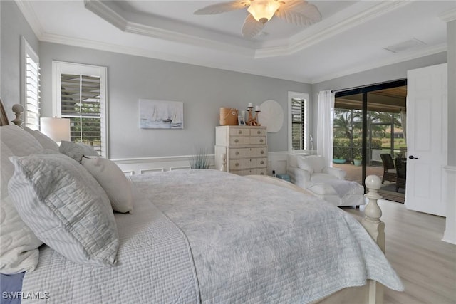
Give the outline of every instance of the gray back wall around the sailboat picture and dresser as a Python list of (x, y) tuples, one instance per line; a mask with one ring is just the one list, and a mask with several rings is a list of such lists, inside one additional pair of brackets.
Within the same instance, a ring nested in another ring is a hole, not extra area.
[[(311, 93), (303, 83), (204, 68), (55, 43), (40, 44), (42, 115), (52, 115), (52, 61), (108, 67), (109, 157), (188, 155), (197, 146), (214, 152), (219, 108), (246, 110), (276, 100), (284, 109), (284, 125), (269, 133), (269, 151), (287, 150), (288, 91)], [(184, 130), (139, 128), (139, 98), (182, 101)]]

